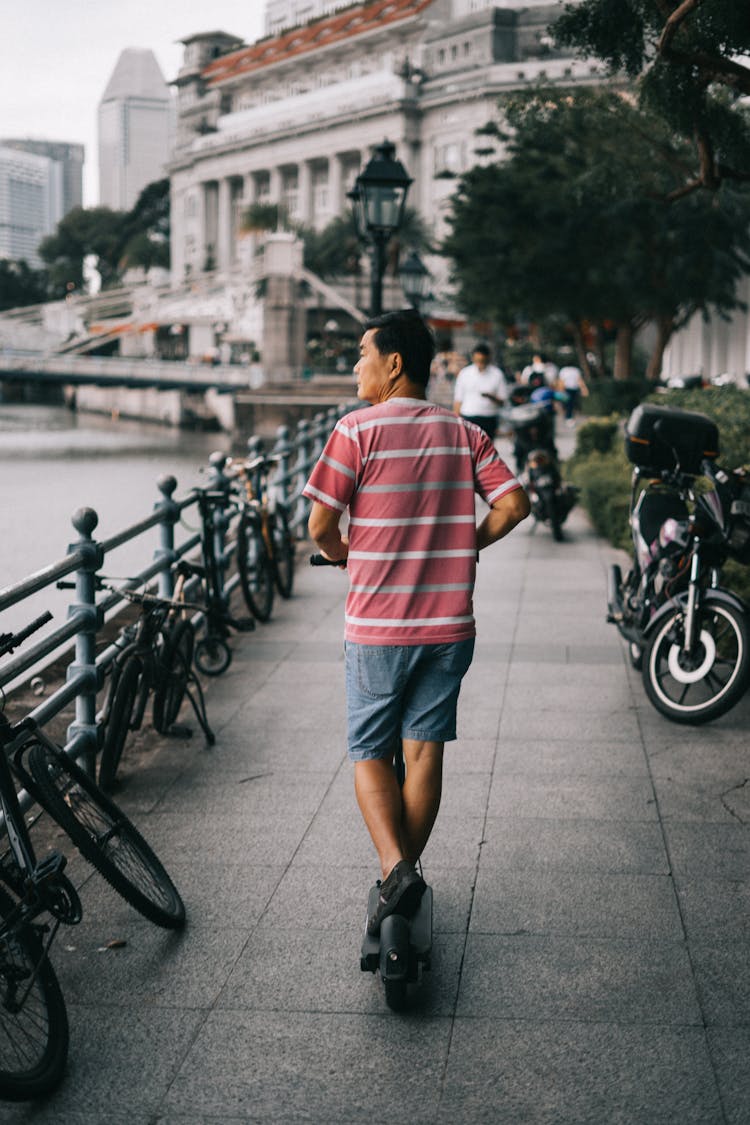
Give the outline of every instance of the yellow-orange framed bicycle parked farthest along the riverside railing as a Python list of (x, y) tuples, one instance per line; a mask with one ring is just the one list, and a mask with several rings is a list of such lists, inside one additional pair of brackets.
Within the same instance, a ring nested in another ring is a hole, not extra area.
[(242, 482), (237, 524), (237, 572), (245, 604), (259, 621), (268, 621), (274, 587), (291, 597), (295, 583), (295, 539), (283, 503), (269, 490), (269, 470), (278, 458), (262, 453), (253, 460), (229, 458), (225, 476)]

